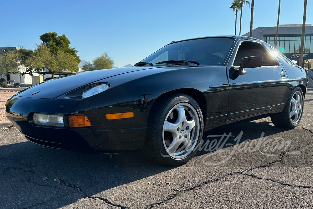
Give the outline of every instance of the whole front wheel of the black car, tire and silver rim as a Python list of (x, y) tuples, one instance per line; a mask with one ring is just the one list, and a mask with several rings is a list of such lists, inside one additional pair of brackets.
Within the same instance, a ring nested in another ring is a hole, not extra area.
[(158, 163), (176, 166), (198, 151), (203, 135), (203, 116), (197, 102), (186, 94), (163, 97), (151, 111), (145, 151)]

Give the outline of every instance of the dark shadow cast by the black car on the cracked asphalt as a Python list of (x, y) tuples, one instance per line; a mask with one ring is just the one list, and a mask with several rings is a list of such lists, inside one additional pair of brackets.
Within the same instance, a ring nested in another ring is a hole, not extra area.
[[(203, 139), (208, 135), (230, 132), (237, 136), (243, 130), (244, 137), (240, 141), (243, 142), (259, 138), (262, 132), (265, 133), (264, 136), (268, 136), (286, 131), (269, 124), (266, 121), (231, 124), (205, 132)], [(201, 151), (196, 156), (207, 153)], [(62, 201), (49, 205), (49, 208), (58, 208), (86, 196), (175, 168), (152, 162), (142, 151), (81, 154), (43, 148), (30, 142), (1, 146), (0, 162), (0, 190), (3, 191), (0, 199), (6, 200), (0, 203), (2, 208), (26, 208), (69, 195)], [(50, 180), (43, 180), (44, 177)], [(54, 179), (61, 183), (58, 184)], [(69, 187), (70, 185), (73, 186)], [(79, 186), (79, 190), (76, 186)], [(75, 195), (71, 195), (73, 193)]]

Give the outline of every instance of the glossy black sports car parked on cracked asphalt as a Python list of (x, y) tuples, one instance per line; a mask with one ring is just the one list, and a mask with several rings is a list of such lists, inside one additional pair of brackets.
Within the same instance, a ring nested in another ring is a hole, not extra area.
[(307, 73), (267, 43), (243, 36), (167, 44), (133, 67), (87, 71), (32, 86), (6, 116), (39, 145), (80, 152), (145, 149), (181, 165), (204, 131), (270, 116), (301, 120)]

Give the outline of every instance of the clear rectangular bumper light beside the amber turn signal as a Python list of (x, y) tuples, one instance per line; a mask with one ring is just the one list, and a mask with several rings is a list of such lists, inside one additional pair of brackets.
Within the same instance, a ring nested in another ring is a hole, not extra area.
[(33, 121), (37, 125), (64, 127), (64, 115), (35, 113)]

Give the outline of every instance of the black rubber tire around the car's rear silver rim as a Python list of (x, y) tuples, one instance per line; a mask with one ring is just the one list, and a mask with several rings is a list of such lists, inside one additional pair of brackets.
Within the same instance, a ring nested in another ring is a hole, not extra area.
[[(292, 118), (290, 116), (290, 108), (291, 108), (291, 100), (295, 94), (295, 92), (300, 91), (300, 94), (302, 96), (302, 107), (301, 107), (301, 112), (300, 112), (300, 119), (296, 122), (293, 123), (292, 122)], [(303, 96), (303, 92), (302, 89), (300, 87), (295, 87), (294, 89), (292, 89), (292, 91), (290, 92), (289, 98), (286, 102), (286, 106), (284, 108), (284, 110), (282, 112), (276, 113), (271, 115), (271, 120), (272, 123), (280, 128), (295, 128), (299, 125), (302, 115), (303, 115), (303, 107), (304, 107), (304, 96)]]

